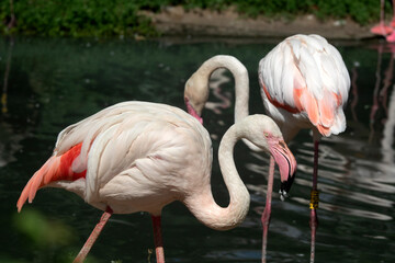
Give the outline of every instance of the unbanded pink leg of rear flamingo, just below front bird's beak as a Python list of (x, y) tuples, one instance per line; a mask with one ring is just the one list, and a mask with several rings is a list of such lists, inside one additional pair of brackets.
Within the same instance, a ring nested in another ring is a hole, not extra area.
[(268, 230), (270, 224), (270, 213), (271, 213), (271, 197), (273, 191), (273, 179), (274, 179), (274, 158), (270, 157), (270, 167), (269, 167), (269, 178), (268, 178), (268, 191), (267, 191), (267, 201), (264, 210), (261, 217), (263, 226), (263, 237), (262, 237), (262, 263), (266, 263), (267, 245), (268, 245)]

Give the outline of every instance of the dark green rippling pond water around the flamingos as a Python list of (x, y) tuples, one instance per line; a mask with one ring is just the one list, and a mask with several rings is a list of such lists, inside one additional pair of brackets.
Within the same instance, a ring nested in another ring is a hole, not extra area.
[[(250, 112), (263, 113), (258, 61), (275, 43), (0, 39), (0, 83), (7, 94), (0, 115), (0, 261), (71, 262), (101, 216), (72, 193), (55, 188), (38, 191), (33, 204), (16, 213), (23, 186), (50, 156), (64, 127), (127, 100), (184, 108), (185, 80), (217, 54), (234, 55), (246, 65)], [(394, 53), (379, 41), (332, 44), (342, 54), (353, 84), (347, 130), (320, 145), (316, 262), (395, 262)], [(214, 195), (226, 205), (216, 152), (218, 138), (233, 123), (233, 106), (221, 105), (233, 102), (234, 84), (228, 72), (216, 79), (219, 95), (212, 92), (211, 110), (203, 117), (214, 139)], [(290, 148), (298, 173), (290, 198), (273, 197), (268, 262), (309, 260), (313, 145), (308, 130)], [(260, 262), (268, 157), (242, 144), (235, 151), (251, 194), (245, 222), (218, 232), (201, 225), (182, 204), (167, 206), (162, 213), (167, 262)], [(276, 178), (275, 192), (279, 186)], [(149, 262), (153, 247), (149, 215), (114, 215), (89, 262)]]

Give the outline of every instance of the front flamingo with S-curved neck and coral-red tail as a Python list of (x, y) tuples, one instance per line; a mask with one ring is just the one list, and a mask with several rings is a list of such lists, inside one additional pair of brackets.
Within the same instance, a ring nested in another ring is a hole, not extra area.
[(276, 124), (253, 115), (224, 135), (218, 159), (230, 202), (218, 206), (211, 191), (212, 142), (206, 129), (184, 111), (158, 103), (123, 102), (72, 124), (58, 135), (53, 156), (31, 178), (18, 210), (37, 190), (60, 187), (104, 210), (75, 262), (82, 262), (112, 214), (151, 215), (157, 262), (165, 262), (161, 209), (182, 202), (205, 226), (227, 230), (249, 208), (249, 193), (233, 159), (236, 141), (246, 138), (270, 152), (281, 172), (293, 174), (295, 159)]

